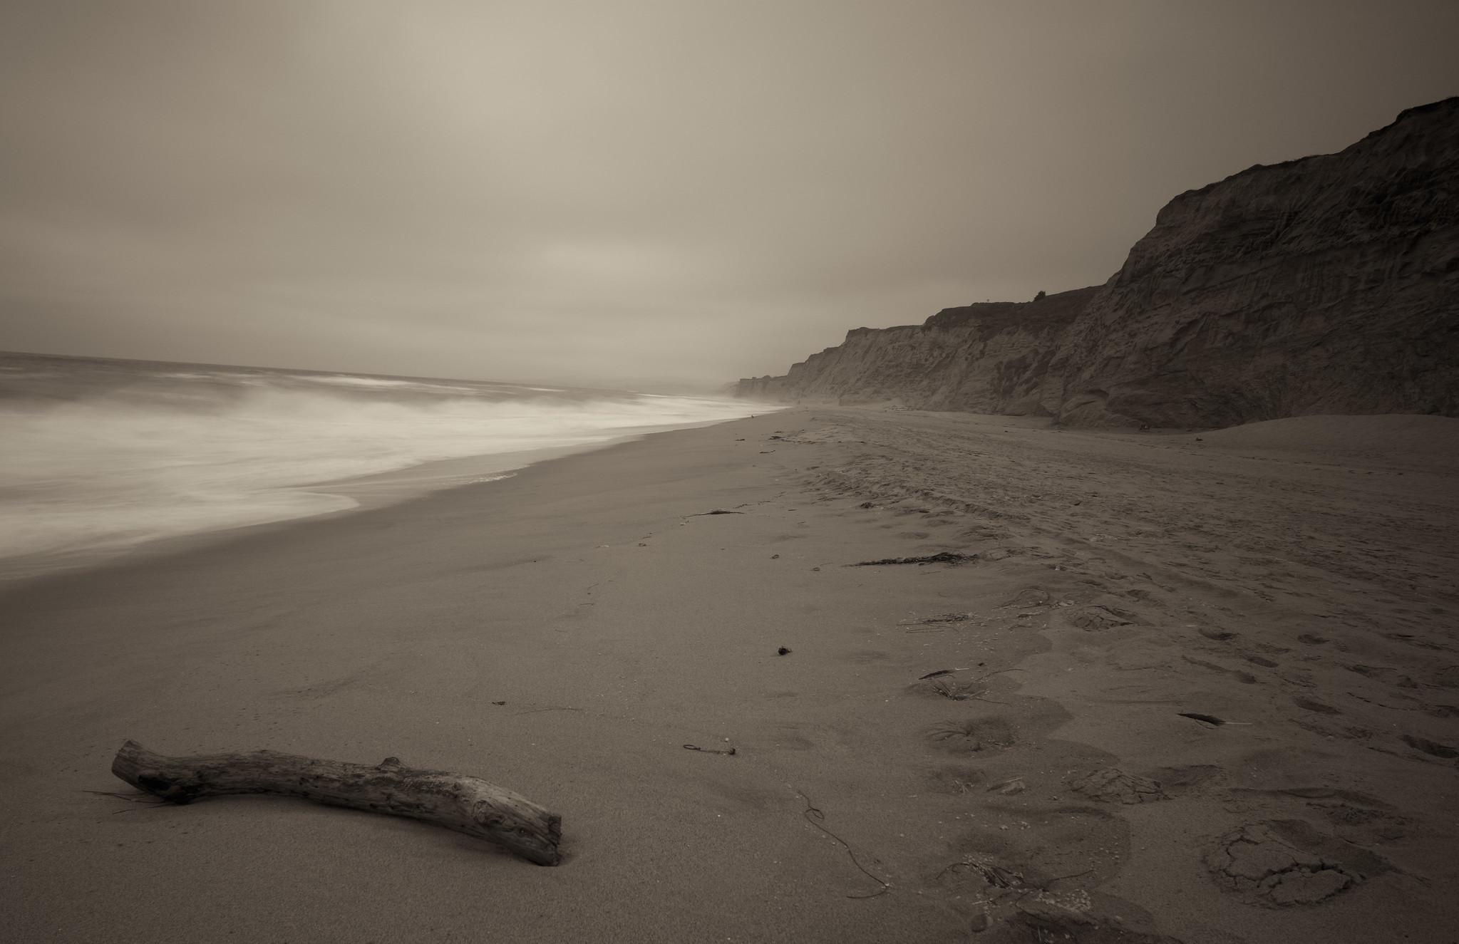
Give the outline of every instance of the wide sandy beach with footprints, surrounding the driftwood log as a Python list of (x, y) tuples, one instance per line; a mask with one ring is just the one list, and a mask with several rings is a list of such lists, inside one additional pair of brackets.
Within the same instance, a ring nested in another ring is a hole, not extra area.
[[(1453, 941), (1456, 427), (792, 410), (15, 588), (4, 937)], [(128, 737), (476, 773), (568, 858), (85, 792)]]

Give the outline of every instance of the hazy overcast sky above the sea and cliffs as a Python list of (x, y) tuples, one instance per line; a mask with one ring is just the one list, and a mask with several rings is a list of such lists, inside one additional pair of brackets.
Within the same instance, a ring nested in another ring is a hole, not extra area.
[(0, 349), (614, 387), (1104, 282), (1459, 3), (4, 0)]

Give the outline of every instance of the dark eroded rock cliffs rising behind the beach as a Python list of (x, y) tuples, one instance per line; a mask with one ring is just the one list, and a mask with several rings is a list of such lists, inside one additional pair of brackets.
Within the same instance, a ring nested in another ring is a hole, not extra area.
[(1459, 413), (1459, 98), (1172, 200), (1102, 286), (856, 328), (772, 401), (1081, 426)]

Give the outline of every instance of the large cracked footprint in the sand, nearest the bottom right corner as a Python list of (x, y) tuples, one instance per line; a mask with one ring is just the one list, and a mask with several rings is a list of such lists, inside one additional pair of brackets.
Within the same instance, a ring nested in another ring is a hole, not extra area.
[(1205, 856), (1215, 884), (1247, 905), (1319, 905), (1393, 867), (1325, 836), (1304, 820), (1249, 823), (1221, 836)]

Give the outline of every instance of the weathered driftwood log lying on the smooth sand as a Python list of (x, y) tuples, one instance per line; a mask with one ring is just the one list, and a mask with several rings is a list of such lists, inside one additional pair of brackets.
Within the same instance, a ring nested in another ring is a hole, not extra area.
[(562, 817), (474, 776), (417, 770), (398, 757), (378, 766), (260, 750), (163, 757), (127, 741), (111, 772), (168, 802), (225, 794), (301, 797), (334, 807), (409, 816), (487, 839), (538, 865), (562, 861)]

